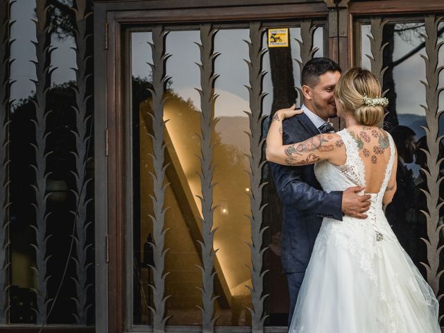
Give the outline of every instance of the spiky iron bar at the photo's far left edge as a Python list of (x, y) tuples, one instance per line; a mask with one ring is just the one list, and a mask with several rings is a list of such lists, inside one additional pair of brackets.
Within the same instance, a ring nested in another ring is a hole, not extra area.
[(0, 324), (8, 323), (9, 185), (8, 185), (8, 117), (10, 111), (10, 7), (15, 1), (0, 2)]

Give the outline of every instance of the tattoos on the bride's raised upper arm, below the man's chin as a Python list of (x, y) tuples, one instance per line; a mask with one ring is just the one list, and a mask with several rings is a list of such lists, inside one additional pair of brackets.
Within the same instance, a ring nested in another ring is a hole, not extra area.
[[(325, 142), (327, 142), (327, 144), (325, 144)], [(313, 152), (332, 151), (333, 149), (334, 145), (331, 144), (328, 139), (324, 139), (322, 135), (316, 135), (316, 137), (311, 137), (305, 142), (301, 142), (300, 144), (292, 144), (291, 146), (285, 148), (285, 155), (288, 156), (285, 159), (285, 162), (293, 165), (315, 163), (321, 160), (321, 157)], [(302, 156), (302, 160), (298, 160), (299, 156)]]

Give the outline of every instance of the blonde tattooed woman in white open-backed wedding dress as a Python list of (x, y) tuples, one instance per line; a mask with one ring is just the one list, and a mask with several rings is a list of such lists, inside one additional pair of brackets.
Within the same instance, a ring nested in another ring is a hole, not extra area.
[(300, 289), (290, 333), (438, 333), (438, 301), (388, 225), (382, 205), (396, 190), (393, 139), (378, 124), (387, 99), (377, 78), (355, 67), (334, 93), (346, 128), (305, 142), (282, 145), (280, 127), (302, 113), (275, 113), (266, 138), (266, 159), (315, 165), (324, 191), (364, 186), (367, 219), (325, 218)]

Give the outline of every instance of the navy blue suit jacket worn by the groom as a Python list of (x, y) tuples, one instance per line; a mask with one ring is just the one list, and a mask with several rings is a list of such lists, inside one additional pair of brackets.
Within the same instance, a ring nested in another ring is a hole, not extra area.
[[(285, 119), (284, 144), (302, 142), (319, 131), (306, 114)], [(323, 217), (342, 221), (342, 191), (329, 194), (314, 176), (314, 165), (287, 167), (268, 163), (278, 196), (284, 206), (281, 260), (285, 273), (304, 272)]]

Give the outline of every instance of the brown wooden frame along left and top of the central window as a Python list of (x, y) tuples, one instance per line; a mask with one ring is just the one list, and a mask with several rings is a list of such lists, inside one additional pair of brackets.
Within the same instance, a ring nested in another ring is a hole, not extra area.
[[(130, 158), (126, 152), (128, 119), (124, 112), (122, 87), (123, 26), (128, 24), (273, 21), (275, 19), (300, 19), (327, 17), (324, 3), (312, 1), (246, 1), (252, 6), (233, 6), (234, 1), (191, 1), (205, 8), (179, 9), (180, 1), (141, 1), (140, 3), (94, 3), (94, 71), (95, 71), (95, 130), (96, 130), (96, 332), (123, 332), (126, 327), (125, 264), (123, 258), (126, 212), (125, 179)], [(219, 6), (217, 6), (219, 5)], [(230, 6), (226, 6), (229, 3)], [(299, 4), (299, 6), (294, 6)], [(223, 6), (225, 5), (225, 6)], [(151, 9), (151, 10), (148, 10)], [(105, 32), (107, 27), (108, 32)], [(104, 62), (103, 60), (106, 61)], [(105, 87), (105, 89), (103, 89)], [(107, 139), (105, 139), (104, 133)], [(108, 143), (106, 142), (108, 140)], [(108, 148), (107, 148), (108, 144)], [(104, 152), (108, 152), (108, 157)], [(106, 194), (106, 195), (104, 195)], [(107, 198), (108, 197), (108, 198)], [(104, 242), (104, 239), (108, 239)], [(108, 262), (103, 261), (105, 257)], [(106, 281), (107, 283), (103, 283)], [(108, 285), (107, 285), (108, 284)], [(99, 294), (101, 296), (99, 296)], [(103, 298), (106, 293), (106, 297)], [(100, 303), (100, 304), (99, 304)], [(183, 332), (190, 327), (176, 327)], [(225, 327), (228, 332), (239, 327)], [(146, 330), (146, 329), (145, 329)], [(250, 330), (250, 329), (249, 329)], [(271, 332), (273, 327), (266, 327)], [(282, 330), (282, 329), (281, 329)], [(169, 328), (167, 327), (167, 331)], [(277, 332), (277, 331), (274, 331)]]

